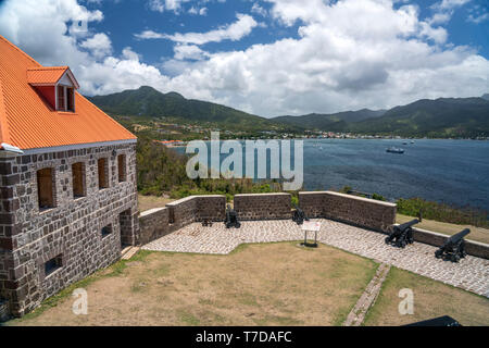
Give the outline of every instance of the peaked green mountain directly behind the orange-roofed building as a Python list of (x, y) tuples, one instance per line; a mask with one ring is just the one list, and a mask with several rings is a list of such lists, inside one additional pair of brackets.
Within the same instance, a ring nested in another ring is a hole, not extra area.
[(226, 129), (285, 129), (264, 117), (212, 102), (186, 99), (177, 92), (162, 94), (152, 87), (140, 87), (109, 96), (88, 98), (110, 114), (122, 116), (176, 117), (223, 125)]

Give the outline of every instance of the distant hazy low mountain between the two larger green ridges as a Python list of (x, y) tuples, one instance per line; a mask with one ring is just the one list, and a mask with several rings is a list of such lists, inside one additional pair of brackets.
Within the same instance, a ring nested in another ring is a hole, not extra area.
[(373, 111), (363, 109), (359, 111), (344, 111), (334, 114), (311, 113), (303, 116), (278, 116), (272, 120), (279, 123), (290, 124), (303, 129), (328, 129), (335, 132), (344, 129), (348, 123), (379, 117), (385, 112), (385, 110)]

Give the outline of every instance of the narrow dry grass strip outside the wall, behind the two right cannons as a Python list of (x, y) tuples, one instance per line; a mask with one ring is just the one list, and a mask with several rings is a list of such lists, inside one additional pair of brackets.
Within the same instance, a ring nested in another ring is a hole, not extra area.
[[(402, 223), (411, 221), (413, 219), (416, 219), (416, 217), (398, 214), (396, 222), (398, 224), (402, 224)], [(426, 220), (426, 219), (423, 219), (423, 222), (421, 224), (417, 224), (416, 226), (419, 228), (423, 228), (423, 229), (438, 232), (438, 233), (441, 233), (444, 235), (450, 235), (450, 236), (454, 235), (457, 232), (461, 232), (464, 228), (471, 228), (471, 234), (466, 237), (466, 239), (472, 239), (472, 240), (489, 244), (489, 229), (487, 229), (487, 228), (480, 228), (480, 227), (475, 227), (475, 226), (469, 226), (469, 225), (455, 225), (455, 224), (449, 224), (446, 222), (438, 222), (438, 221)]]

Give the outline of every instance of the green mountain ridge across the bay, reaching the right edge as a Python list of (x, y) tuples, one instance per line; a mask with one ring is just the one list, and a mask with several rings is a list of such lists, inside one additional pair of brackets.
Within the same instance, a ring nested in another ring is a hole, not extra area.
[[(487, 98), (487, 99), (485, 99)], [(306, 129), (415, 137), (489, 136), (489, 95), (418, 100), (388, 111), (360, 110), (273, 119)]]

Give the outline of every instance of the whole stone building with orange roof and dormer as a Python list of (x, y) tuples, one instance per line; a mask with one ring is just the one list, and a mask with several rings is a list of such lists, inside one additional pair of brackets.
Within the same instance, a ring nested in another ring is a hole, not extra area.
[(138, 244), (137, 138), (0, 36), (0, 303), (20, 316)]

